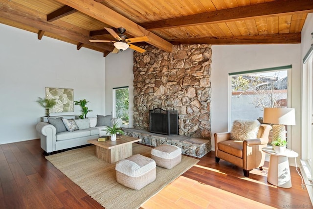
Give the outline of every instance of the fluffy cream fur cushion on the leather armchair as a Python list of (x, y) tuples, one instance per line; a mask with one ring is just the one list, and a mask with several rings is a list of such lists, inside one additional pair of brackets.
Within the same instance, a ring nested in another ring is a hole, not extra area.
[(257, 120), (235, 120), (230, 131), (230, 139), (244, 141), (256, 139), (260, 123)]

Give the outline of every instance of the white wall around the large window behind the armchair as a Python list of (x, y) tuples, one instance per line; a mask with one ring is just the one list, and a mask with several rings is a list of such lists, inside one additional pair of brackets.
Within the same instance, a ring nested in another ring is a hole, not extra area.
[(228, 73), (292, 65), (291, 107), (295, 108), (296, 125), (291, 126), (288, 147), (300, 153), (300, 44), (212, 46), (212, 149), (214, 133), (228, 127)]

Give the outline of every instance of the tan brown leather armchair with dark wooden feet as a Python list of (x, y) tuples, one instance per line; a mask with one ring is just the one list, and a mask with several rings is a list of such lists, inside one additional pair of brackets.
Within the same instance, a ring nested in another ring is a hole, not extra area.
[(230, 133), (215, 133), (215, 161), (220, 159), (233, 163), (243, 168), (245, 177), (249, 176), (249, 171), (259, 167), (262, 170), (265, 153), (263, 147), (268, 144), (270, 125), (261, 124), (256, 139), (246, 139), (244, 141), (231, 140)]

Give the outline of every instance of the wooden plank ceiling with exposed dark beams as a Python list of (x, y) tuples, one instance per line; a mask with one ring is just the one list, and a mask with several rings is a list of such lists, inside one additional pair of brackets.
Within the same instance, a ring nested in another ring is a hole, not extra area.
[(294, 44), (313, 0), (0, 0), (0, 23), (109, 54), (104, 27), (171, 51), (178, 44)]

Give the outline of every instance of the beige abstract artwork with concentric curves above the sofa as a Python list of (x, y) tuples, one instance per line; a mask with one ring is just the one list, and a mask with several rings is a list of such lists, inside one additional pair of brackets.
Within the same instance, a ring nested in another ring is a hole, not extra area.
[(55, 99), (57, 104), (50, 113), (74, 112), (74, 90), (45, 87), (45, 98)]

